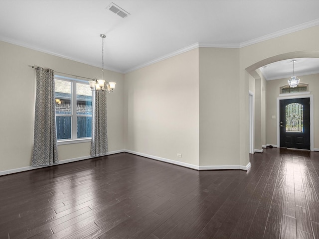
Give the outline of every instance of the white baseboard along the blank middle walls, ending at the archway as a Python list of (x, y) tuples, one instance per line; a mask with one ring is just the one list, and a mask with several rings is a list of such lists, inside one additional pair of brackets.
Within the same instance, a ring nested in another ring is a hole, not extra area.
[(161, 157), (158, 157), (158, 156), (145, 154), (145, 153), (140, 153), (140, 152), (135, 152), (135, 151), (127, 150), (127, 149), (125, 150), (125, 152), (132, 153), (132, 154), (139, 155), (139, 156), (143, 156), (143, 157), (147, 157), (147, 158), (151, 158), (151, 159), (155, 159), (155, 160), (159, 160), (159, 161), (166, 162), (166, 163), (175, 164), (175, 165), (186, 167), (186, 168), (195, 169), (195, 170), (198, 170), (198, 171), (201, 171), (201, 170), (229, 170), (229, 169), (241, 169), (241, 170), (248, 171), (250, 169), (250, 167), (251, 167), (250, 163), (248, 163), (246, 166), (242, 166), (242, 165), (197, 166), (197, 165), (194, 165), (194, 164), (184, 163), (184, 162), (175, 161), (175, 160), (171, 160), (171, 159), (167, 159), (167, 158), (161, 158)]

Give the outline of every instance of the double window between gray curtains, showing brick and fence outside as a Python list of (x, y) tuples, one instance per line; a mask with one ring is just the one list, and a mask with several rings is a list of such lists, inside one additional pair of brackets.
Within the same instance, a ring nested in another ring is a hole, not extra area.
[(89, 83), (55, 76), (55, 115), (58, 140), (90, 138), (92, 91)]

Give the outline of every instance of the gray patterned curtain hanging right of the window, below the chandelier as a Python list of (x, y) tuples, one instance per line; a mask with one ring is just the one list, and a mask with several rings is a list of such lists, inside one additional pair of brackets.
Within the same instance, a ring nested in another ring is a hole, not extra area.
[(92, 116), (91, 156), (102, 156), (108, 153), (106, 95), (106, 91), (95, 92)]

